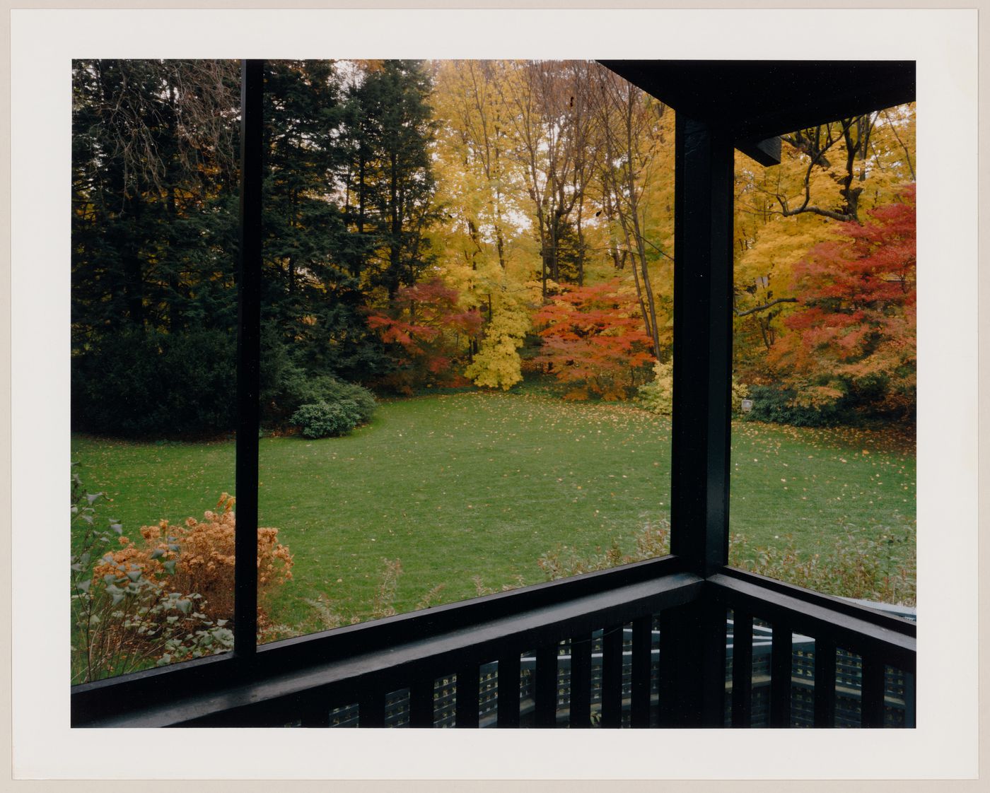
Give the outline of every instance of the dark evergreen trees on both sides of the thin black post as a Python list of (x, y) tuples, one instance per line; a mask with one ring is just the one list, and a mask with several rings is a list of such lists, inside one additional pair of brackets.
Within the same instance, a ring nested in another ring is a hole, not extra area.
[[(284, 420), (321, 376), (374, 383), (401, 368), (368, 314), (434, 258), (430, 90), (413, 61), (266, 65), (266, 421)], [(239, 100), (234, 61), (74, 64), (80, 427), (233, 424)]]

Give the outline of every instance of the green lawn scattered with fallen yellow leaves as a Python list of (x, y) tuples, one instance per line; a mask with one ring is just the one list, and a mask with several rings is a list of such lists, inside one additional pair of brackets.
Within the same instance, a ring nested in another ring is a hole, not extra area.
[[(232, 441), (78, 436), (72, 459), (88, 490), (113, 499), (103, 512), (132, 538), (161, 518), (201, 517), (234, 491)], [(669, 516), (669, 476), (667, 420), (534, 393), (418, 397), (382, 404), (347, 438), (262, 438), (260, 524), (277, 527), (295, 557), (271, 617), (312, 620), (306, 600), (323, 595), (366, 618), (384, 559), (401, 561), (395, 607), (404, 611), (438, 585), (439, 600), (452, 601), (479, 585), (541, 581), (537, 559), (556, 545), (590, 553), (617, 540), (631, 550), (645, 524)], [(788, 535), (811, 553), (837, 533), (913, 532), (914, 510), (915, 458), (903, 441), (735, 427), (732, 531), (745, 537), (743, 556)]]

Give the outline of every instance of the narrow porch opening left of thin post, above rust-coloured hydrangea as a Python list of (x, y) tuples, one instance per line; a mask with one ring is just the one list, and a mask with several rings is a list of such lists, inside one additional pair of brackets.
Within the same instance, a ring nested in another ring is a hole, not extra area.
[(75, 60), (72, 84), (79, 683), (232, 646), (240, 74)]

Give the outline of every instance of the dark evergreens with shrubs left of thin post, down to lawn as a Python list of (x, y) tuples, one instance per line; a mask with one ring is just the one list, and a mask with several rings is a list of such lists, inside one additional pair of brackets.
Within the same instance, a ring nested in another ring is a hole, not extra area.
[(79, 60), (72, 87), (73, 425), (224, 429), (237, 64)]

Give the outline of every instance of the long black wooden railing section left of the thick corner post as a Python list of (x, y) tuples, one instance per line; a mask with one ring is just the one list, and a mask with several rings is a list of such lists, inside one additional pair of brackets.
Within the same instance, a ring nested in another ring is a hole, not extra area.
[[(590, 637), (597, 630), (607, 636), (620, 632), (619, 643), (609, 638), (604, 643), (603, 676), (610, 691), (616, 669), (621, 670), (621, 629), (630, 625), (634, 723), (645, 725), (652, 615), (696, 602), (703, 583), (674, 558), (653, 559), (265, 644), (249, 662), (217, 656), (76, 686), (73, 724), (329, 726), (334, 709), (356, 704), (359, 724), (374, 727), (385, 724), (386, 695), (408, 688), (409, 723), (430, 726), (436, 681), (454, 678), (455, 724), (478, 726), (482, 668), (496, 661), (500, 689), (504, 692), (512, 679), (518, 691), (525, 653), (535, 659), (532, 671), (527, 670), (534, 682), (534, 721), (552, 726), (561, 643), (570, 646), (568, 723), (590, 724)], [(617, 704), (621, 707), (621, 698), (605, 695), (603, 723), (616, 722)], [(496, 721), (503, 727), (520, 723), (518, 697), (515, 702), (498, 699)]]

